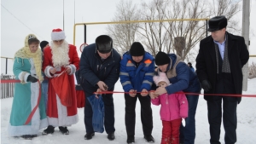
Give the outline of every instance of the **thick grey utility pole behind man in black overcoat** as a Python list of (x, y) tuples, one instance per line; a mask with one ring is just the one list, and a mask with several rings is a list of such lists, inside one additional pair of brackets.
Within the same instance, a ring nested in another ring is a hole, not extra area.
[[(249, 32), (250, 32), (250, 6), (251, 0), (242, 0), (242, 31), (241, 36), (244, 37), (245, 43), (247, 45), (247, 49), (249, 50), (250, 39), (249, 39)], [(242, 90), (247, 91), (247, 79), (248, 79), (248, 62), (246, 65), (242, 67)]]

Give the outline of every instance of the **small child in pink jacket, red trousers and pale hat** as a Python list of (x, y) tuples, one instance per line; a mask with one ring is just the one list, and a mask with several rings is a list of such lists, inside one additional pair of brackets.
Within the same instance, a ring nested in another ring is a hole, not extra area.
[[(170, 84), (165, 72), (154, 76), (154, 83), (159, 87)], [(153, 105), (161, 105), (160, 118), (163, 124), (161, 144), (179, 144), (179, 127), (182, 118), (188, 117), (188, 101), (182, 91), (177, 94), (150, 95)]]

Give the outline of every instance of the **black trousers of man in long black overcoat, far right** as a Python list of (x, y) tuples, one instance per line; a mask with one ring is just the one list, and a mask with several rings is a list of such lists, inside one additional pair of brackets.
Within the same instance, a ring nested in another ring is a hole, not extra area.
[(224, 141), (225, 144), (236, 143), (236, 107), (237, 98), (231, 96), (214, 96), (212, 101), (207, 101), (208, 122), (210, 124), (210, 143), (220, 144), (219, 135), (222, 118), (222, 101), (223, 101), (223, 124), (224, 124)]

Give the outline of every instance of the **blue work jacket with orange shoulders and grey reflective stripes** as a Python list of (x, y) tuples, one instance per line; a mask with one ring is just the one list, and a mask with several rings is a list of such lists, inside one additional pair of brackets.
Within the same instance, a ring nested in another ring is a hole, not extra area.
[(137, 66), (132, 60), (129, 52), (123, 55), (120, 61), (120, 82), (125, 92), (136, 89), (141, 92), (143, 89), (150, 90), (154, 76), (154, 57), (148, 52), (143, 55), (143, 60)]

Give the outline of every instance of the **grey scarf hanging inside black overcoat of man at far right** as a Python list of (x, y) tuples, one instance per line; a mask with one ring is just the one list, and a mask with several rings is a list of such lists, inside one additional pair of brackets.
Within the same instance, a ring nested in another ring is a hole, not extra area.
[[(224, 48), (224, 60), (222, 63), (222, 72), (230, 73), (230, 60), (228, 55), (228, 35), (225, 35), (226, 42), (225, 42), (225, 48)], [(216, 60), (217, 60), (217, 73), (218, 73), (218, 44), (214, 43), (215, 45), (215, 53), (216, 53)]]

